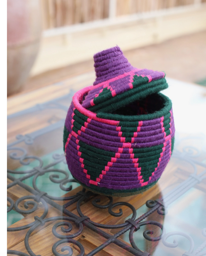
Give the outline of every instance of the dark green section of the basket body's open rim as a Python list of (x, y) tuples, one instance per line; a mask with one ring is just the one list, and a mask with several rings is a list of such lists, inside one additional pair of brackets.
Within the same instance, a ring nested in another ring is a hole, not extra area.
[[(164, 101), (164, 107), (154, 113), (147, 114), (147, 115), (133, 115), (133, 116), (125, 116), (125, 115), (117, 115), (117, 114), (110, 114), (110, 113), (97, 113), (97, 117), (103, 118), (103, 119), (109, 119), (109, 120), (116, 120), (116, 121), (125, 121), (125, 122), (134, 122), (134, 121), (143, 121), (143, 120), (152, 120), (156, 119), (162, 116), (167, 115), (171, 108), (172, 108), (172, 102), (171, 100), (163, 95), (162, 93), (157, 93), (157, 96), (159, 96)], [(115, 98), (115, 97), (114, 97)]]

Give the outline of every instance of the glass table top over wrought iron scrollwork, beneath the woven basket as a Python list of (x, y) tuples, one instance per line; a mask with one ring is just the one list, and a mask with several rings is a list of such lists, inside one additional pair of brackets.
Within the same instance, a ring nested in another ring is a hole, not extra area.
[(168, 82), (174, 151), (158, 183), (135, 196), (99, 196), (73, 180), (63, 126), (75, 89), (8, 115), (8, 254), (206, 255), (206, 90)]

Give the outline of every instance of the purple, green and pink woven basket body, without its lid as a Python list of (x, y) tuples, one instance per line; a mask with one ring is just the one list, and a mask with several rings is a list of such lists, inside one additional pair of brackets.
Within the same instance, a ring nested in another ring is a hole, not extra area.
[(114, 120), (115, 115), (103, 119), (101, 113), (71, 104), (64, 149), (68, 168), (82, 186), (99, 194), (128, 196), (157, 182), (169, 162), (175, 132), (171, 101), (160, 97), (164, 109), (130, 121), (124, 116)]

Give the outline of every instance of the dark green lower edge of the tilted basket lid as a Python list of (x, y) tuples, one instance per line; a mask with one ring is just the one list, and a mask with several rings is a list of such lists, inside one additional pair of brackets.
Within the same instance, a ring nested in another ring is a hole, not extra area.
[(96, 113), (98, 112), (111, 113), (111, 111), (124, 107), (131, 102), (145, 98), (148, 95), (148, 93), (149, 94), (156, 93), (158, 91), (161, 91), (162, 89), (166, 89), (167, 87), (168, 87), (168, 84), (165, 78), (162, 78), (162, 79), (148, 83), (148, 85), (146, 86), (146, 89), (145, 89), (145, 85), (143, 84), (141, 86), (138, 86), (137, 88), (130, 89), (129, 91), (118, 94), (109, 100), (102, 101), (98, 105), (90, 107), (89, 110)]

